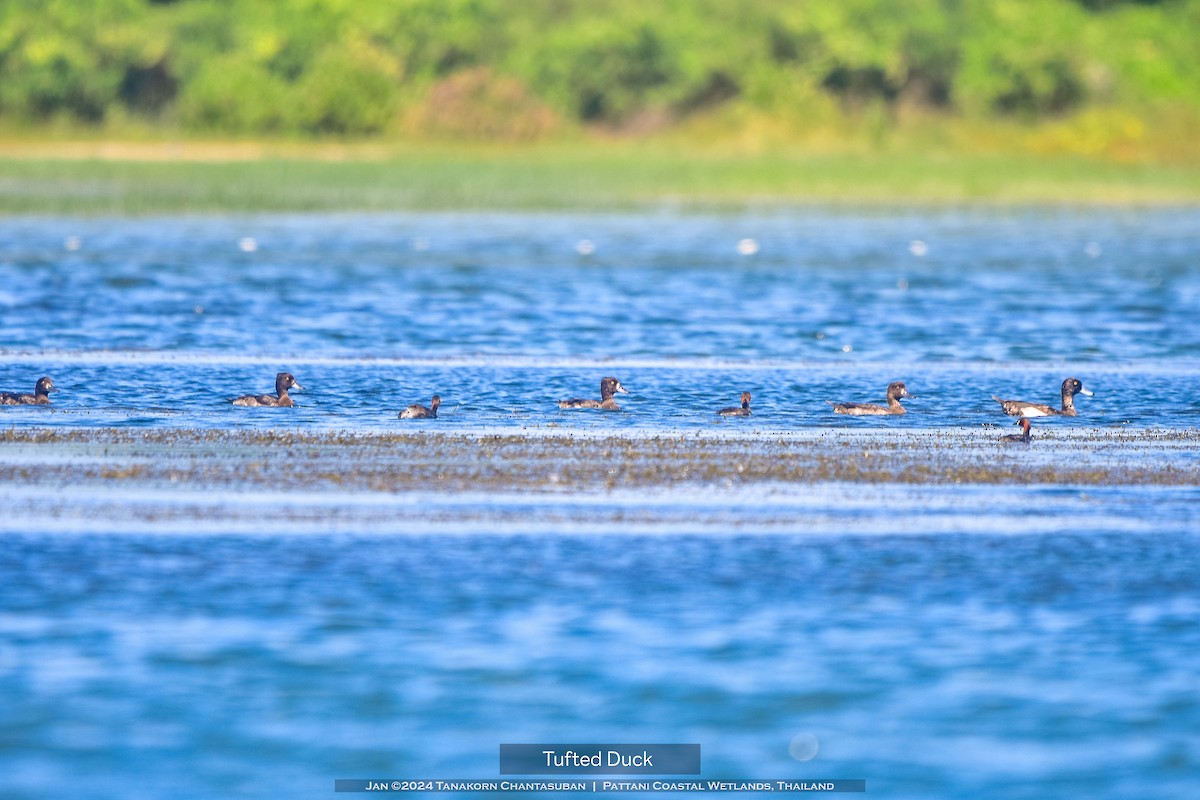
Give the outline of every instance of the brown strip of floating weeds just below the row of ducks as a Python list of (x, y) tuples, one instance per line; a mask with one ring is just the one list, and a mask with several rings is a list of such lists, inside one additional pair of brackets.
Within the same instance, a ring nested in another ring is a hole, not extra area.
[[(1069, 451), (1069, 459), (1060, 458)], [(1200, 431), (1094, 431), (1003, 445), (988, 432), (710, 438), (526, 433), (10, 429), (10, 486), (280, 492), (605, 492), (778, 483), (1200, 486)]]

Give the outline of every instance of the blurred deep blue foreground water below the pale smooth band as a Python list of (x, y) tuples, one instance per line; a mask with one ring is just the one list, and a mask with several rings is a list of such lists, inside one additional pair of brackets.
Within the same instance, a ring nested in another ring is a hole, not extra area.
[(1187, 798), (1196, 545), (12, 535), (0, 775), (319, 798), (494, 778), (504, 741), (678, 741), (709, 777), (869, 796)]

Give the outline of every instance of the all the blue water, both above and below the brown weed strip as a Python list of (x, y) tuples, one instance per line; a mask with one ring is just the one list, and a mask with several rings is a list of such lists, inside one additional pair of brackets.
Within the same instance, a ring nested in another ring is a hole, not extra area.
[[(1045, 464), (1198, 427), (1198, 308), (1192, 207), (12, 218), (0, 390), (61, 391), (0, 427), (994, 437), (992, 395), (1078, 377)], [(281, 369), (299, 408), (229, 405)], [(557, 408), (606, 374), (623, 413)], [(892, 380), (904, 417), (826, 404)], [(742, 391), (754, 416), (719, 420)], [(1200, 796), (1193, 486), (564, 495), (557, 528), (522, 528), (529, 498), (283, 493), (383, 522), (254, 534), (62, 524), (37, 492), (0, 486), (4, 798), (323, 798), (496, 777), (500, 742), (542, 740), (700, 742), (707, 776), (878, 798)], [(601, 530), (589, 504), (684, 511)]]

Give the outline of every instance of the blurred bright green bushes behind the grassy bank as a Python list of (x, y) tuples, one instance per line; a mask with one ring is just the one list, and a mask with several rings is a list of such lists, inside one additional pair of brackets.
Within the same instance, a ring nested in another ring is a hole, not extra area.
[(523, 140), (1085, 115), (1094, 138), (1109, 114), (1120, 138), (1164, 109), (1200, 120), (1200, 0), (0, 0), (10, 127)]

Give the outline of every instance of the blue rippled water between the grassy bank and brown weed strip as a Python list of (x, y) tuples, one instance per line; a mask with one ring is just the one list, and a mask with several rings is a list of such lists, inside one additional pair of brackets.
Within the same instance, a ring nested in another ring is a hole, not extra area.
[(1198, 230), (1194, 209), (10, 219), (0, 380), (61, 392), (4, 422), (277, 426), (226, 402), (288, 369), (284, 425), (316, 429), (391, 429), (433, 393), (448, 425), (560, 422), (608, 373), (636, 414), (606, 425), (652, 429), (742, 391), (763, 423), (846, 425), (826, 399), (892, 380), (910, 425), (972, 425), (1068, 375), (1094, 421), (1194, 426)]

